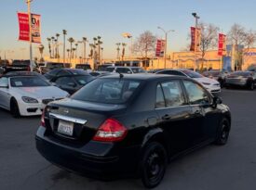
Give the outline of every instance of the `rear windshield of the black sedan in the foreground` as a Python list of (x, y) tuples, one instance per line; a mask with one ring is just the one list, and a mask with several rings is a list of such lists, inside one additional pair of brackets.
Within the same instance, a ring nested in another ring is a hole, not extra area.
[(141, 81), (128, 79), (96, 79), (71, 96), (72, 99), (105, 104), (128, 101)]

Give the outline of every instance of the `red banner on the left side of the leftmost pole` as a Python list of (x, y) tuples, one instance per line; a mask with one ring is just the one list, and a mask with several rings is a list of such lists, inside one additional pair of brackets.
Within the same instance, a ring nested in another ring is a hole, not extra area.
[(30, 41), (30, 25), (28, 13), (18, 13), (20, 35), (19, 40)]

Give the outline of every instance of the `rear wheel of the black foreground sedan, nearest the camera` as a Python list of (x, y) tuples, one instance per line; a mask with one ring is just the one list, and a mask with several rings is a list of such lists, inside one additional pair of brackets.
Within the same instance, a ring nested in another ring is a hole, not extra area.
[(140, 164), (142, 184), (154, 188), (162, 181), (167, 168), (168, 156), (164, 146), (151, 142), (145, 147)]

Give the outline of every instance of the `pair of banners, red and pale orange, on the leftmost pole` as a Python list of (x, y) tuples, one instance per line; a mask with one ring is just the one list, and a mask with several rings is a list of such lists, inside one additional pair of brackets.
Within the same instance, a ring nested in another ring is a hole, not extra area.
[[(30, 41), (29, 14), (18, 12), (19, 40)], [(31, 35), (33, 43), (41, 43), (41, 18), (40, 15), (31, 14)]]

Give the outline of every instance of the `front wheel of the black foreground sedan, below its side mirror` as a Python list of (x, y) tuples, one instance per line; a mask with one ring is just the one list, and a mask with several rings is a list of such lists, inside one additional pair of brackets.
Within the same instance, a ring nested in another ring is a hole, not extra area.
[(223, 146), (227, 143), (230, 131), (230, 123), (227, 119), (223, 118), (219, 124), (219, 130), (215, 140), (215, 144)]

